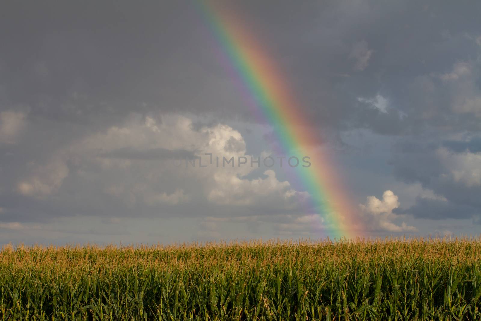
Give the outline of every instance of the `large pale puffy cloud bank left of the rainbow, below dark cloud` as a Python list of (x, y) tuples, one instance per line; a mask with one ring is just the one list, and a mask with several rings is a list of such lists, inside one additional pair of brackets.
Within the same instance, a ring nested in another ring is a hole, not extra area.
[[(3, 159), (11, 170), (0, 173), (0, 222), (85, 215), (235, 217), (309, 210), (308, 196), (278, 180), (273, 170), (263, 167), (264, 173), (255, 174), (253, 167), (217, 167), (215, 161), (207, 166), (205, 153), (250, 158), (245, 141), (227, 125), (191, 125), (185, 116), (133, 115), (122, 125), (58, 144), (48, 157), (37, 159), (6, 145), (11, 152)], [(15, 164), (23, 158), (21, 166)], [(178, 158), (180, 166), (165, 161)], [(195, 165), (187, 164), (186, 158), (194, 158)], [(200, 158), (207, 167), (199, 167)], [(248, 174), (253, 178), (245, 178)]]

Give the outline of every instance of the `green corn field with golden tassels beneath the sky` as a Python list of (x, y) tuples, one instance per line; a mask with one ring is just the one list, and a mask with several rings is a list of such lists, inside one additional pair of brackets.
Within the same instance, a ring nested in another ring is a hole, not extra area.
[(4, 246), (1, 320), (481, 320), (480, 239)]

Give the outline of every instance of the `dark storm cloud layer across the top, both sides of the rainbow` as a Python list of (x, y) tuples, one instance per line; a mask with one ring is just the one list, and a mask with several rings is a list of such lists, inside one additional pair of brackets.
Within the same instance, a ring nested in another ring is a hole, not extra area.
[[(422, 77), (476, 57), (478, 2), (223, 5), (265, 44), (316, 126), (384, 134), (428, 125), (480, 128), (479, 118), (460, 119), (445, 104), (439, 116), (422, 116), (433, 108)], [(133, 110), (251, 118), (202, 14), (188, 1), (12, 1), (1, 14), (4, 106), (24, 104), (33, 115), (89, 123)], [(356, 103), (378, 93), (405, 118)]]

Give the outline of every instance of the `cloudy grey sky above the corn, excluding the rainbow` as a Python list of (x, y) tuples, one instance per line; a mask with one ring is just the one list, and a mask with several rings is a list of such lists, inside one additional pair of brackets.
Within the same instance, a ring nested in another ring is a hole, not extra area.
[[(222, 6), (310, 120), (356, 235), (480, 234), (481, 2)], [(293, 169), (250, 166), (290, 151), (192, 1), (8, 1), (0, 30), (0, 244), (331, 236)]]

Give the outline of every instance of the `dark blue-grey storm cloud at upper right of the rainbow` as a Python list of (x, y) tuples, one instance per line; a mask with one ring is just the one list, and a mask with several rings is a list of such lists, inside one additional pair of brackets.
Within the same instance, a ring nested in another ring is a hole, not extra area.
[[(319, 126), (367, 127), (384, 134), (480, 129), (479, 115), (453, 112), (451, 99), (459, 92), (436, 78), (458, 61), (476, 61), (481, 27), (472, 10), (480, 3), (324, 1), (296, 8), (248, 3), (243, 13), (249, 26), (261, 26), (259, 37), (268, 40), (273, 59)], [(358, 43), (369, 52), (362, 71), (351, 58)], [(359, 97), (377, 94), (394, 109), (388, 115), (357, 104)]]

